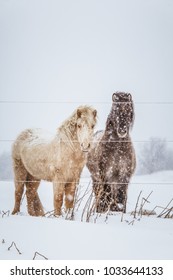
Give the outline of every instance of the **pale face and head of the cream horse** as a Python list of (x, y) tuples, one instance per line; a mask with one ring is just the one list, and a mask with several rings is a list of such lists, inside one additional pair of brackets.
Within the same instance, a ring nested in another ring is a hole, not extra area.
[(76, 133), (81, 150), (88, 152), (91, 146), (97, 111), (91, 107), (81, 106), (76, 111)]

